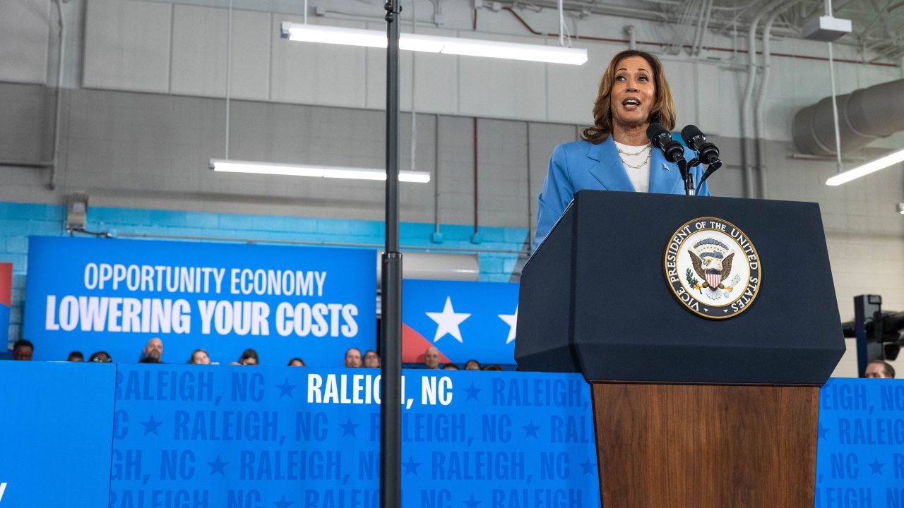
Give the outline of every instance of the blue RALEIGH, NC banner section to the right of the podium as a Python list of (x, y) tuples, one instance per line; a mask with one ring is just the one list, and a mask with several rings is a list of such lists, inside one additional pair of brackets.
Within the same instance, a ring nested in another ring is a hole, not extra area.
[(816, 508), (904, 508), (904, 382), (830, 379), (819, 392)]

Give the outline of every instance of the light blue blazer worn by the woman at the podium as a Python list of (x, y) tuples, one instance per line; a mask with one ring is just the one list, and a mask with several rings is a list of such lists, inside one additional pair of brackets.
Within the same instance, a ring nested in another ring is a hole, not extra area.
[[(685, 147), (684, 158), (690, 161), (693, 156), (693, 151)], [(694, 184), (700, 183), (702, 166), (694, 167), (692, 173)], [(608, 136), (598, 145), (589, 141), (572, 141), (556, 146), (552, 151), (550, 169), (543, 182), (543, 192), (538, 198), (534, 250), (559, 220), (574, 193), (584, 189), (635, 192), (634, 185), (627, 177), (625, 166), (622, 165), (621, 157), (618, 156), (612, 136)], [(649, 190), (651, 193), (684, 193), (681, 171), (677, 165), (665, 161), (663, 151), (659, 148), (653, 148), (653, 155), (650, 156)], [(700, 195), (710, 195), (705, 182), (700, 189)]]

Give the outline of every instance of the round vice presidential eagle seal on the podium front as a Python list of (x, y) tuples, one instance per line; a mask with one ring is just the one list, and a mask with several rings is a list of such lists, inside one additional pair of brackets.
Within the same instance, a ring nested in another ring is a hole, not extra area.
[(665, 279), (674, 296), (711, 319), (747, 310), (762, 283), (761, 265), (748, 236), (715, 217), (686, 222), (665, 248)]

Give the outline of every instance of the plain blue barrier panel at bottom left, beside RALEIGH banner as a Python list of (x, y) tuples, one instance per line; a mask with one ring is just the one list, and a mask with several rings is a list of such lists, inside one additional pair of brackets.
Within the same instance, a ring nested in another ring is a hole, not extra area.
[(0, 506), (106, 506), (112, 364), (0, 362)]

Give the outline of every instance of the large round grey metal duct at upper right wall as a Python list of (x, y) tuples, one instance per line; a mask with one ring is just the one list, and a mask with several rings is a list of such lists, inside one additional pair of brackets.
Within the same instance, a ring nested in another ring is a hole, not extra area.
[[(904, 130), (904, 80), (854, 90), (836, 99), (842, 153)], [(797, 111), (793, 134), (794, 144), (802, 153), (834, 155), (832, 97)]]

